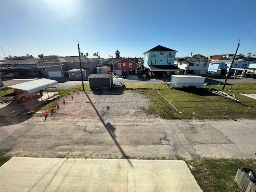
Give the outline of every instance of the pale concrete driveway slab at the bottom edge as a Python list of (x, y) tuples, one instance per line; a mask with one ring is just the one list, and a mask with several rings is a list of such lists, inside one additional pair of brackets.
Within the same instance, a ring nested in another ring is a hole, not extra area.
[(184, 161), (13, 157), (1, 191), (202, 192)]

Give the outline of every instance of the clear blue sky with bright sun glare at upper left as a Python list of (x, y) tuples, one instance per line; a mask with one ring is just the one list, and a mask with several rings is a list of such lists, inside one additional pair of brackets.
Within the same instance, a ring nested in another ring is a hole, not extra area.
[(161, 45), (176, 57), (256, 54), (256, 1), (1, 0), (0, 57), (38, 54), (143, 57)]

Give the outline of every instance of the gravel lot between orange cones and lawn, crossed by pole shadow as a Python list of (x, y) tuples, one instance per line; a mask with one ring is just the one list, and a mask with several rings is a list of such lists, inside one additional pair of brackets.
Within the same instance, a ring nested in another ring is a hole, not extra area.
[[(60, 98), (58, 102), (60, 107), (57, 110), (57, 103), (51, 116), (51, 108), (47, 110), (48, 119), (52, 120), (82, 120), (91, 122), (95, 119), (118, 118), (125, 121), (148, 122), (148, 119), (154, 119), (155, 116), (147, 116), (140, 107), (148, 108), (150, 100), (145, 99), (143, 95), (137, 92), (119, 90), (97, 90), (79, 92), (73, 94), (73, 98)], [(34, 117), (44, 115), (44, 110), (38, 111)]]

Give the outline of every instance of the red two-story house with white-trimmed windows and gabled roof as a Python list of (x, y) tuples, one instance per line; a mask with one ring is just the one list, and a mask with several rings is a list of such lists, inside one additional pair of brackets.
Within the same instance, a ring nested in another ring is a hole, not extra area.
[(127, 72), (128, 75), (136, 75), (138, 59), (137, 58), (112, 59), (112, 65), (113, 65), (114, 73), (116, 75), (121, 76), (122, 72)]

